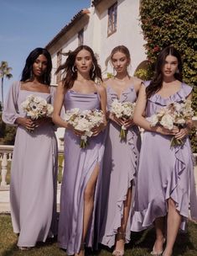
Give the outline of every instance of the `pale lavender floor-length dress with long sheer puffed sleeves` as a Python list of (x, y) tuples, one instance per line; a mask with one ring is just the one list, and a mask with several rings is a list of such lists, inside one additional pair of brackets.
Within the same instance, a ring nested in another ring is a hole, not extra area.
[[(54, 91), (37, 93), (20, 89), (15, 82), (3, 109), (3, 121), (14, 125), (25, 113), (21, 103), (34, 94), (52, 103)], [(18, 125), (11, 167), (10, 204), (13, 232), (19, 233), (19, 247), (34, 247), (57, 234), (56, 184), (57, 141), (52, 124), (33, 133)]]

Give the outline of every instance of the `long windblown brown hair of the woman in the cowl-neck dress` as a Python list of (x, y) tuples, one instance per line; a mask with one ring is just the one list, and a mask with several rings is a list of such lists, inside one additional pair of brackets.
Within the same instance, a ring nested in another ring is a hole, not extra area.
[(58, 67), (57, 71), (55, 72), (55, 74), (57, 74), (58, 72), (63, 70), (62, 81), (63, 81), (64, 87), (67, 89), (72, 88), (73, 84), (76, 80), (77, 72), (75, 70), (75, 58), (76, 58), (77, 54), (83, 49), (86, 51), (89, 51), (91, 53), (92, 64), (93, 64), (93, 67), (91, 68), (91, 71), (90, 71), (91, 80), (95, 81), (97, 78), (98, 80), (102, 81), (101, 67), (98, 65), (96, 56), (95, 56), (94, 52), (91, 50), (91, 47), (89, 47), (87, 45), (80, 45), (75, 49), (75, 51), (69, 51), (68, 53), (65, 54), (68, 56), (65, 63), (62, 64), (60, 67)]

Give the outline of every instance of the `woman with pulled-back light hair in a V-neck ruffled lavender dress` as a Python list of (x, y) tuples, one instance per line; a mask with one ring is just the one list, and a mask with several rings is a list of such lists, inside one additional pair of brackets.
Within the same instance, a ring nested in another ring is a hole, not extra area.
[[(100, 242), (110, 248), (115, 245), (112, 254), (121, 256), (124, 254), (124, 243), (130, 241), (132, 186), (137, 173), (141, 139), (132, 119), (117, 118), (110, 110), (115, 99), (122, 103), (135, 102), (141, 80), (128, 75), (127, 67), (131, 59), (126, 46), (115, 47), (110, 60), (117, 74), (105, 82), (110, 123), (103, 161)], [(122, 125), (127, 129), (125, 140), (120, 139)]]

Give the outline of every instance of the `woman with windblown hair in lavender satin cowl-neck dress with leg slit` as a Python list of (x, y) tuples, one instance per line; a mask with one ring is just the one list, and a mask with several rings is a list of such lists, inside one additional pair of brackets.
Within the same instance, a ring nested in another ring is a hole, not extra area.
[(106, 90), (94, 82), (96, 78), (101, 80), (101, 69), (93, 51), (86, 45), (70, 52), (57, 72), (61, 70), (65, 71), (65, 77), (57, 89), (53, 115), (54, 123), (66, 128), (58, 240), (60, 248), (66, 249), (68, 255), (84, 255), (85, 243), (92, 247), (96, 238), (96, 199), (104, 152), (101, 132), (104, 125), (94, 128), (88, 146), (80, 148), (83, 133), (62, 120), (60, 112), (64, 104), (65, 110), (102, 109), (105, 114)]

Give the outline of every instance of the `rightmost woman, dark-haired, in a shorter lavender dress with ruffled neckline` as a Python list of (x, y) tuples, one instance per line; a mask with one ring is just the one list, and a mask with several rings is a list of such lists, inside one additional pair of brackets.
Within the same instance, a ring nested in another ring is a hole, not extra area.
[[(150, 117), (168, 103), (191, 99), (192, 88), (182, 82), (181, 72), (179, 52), (173, 46), (164, 48), (158, 55), (153, 81), (144, 83), (140, 89), (134, 113), (134, 121), (145, 132), (132, 230), (140, 231), (154, 223), (156, 240), (153, 255), (172, 255), (179, 228), (185, 229), (189, 209), (191, 217), (197, 219), (194, 165), (188, 138), (192, 121), (189, 120), (184, 128), (174, 126), (173, 130), (168, 130), (159, 125), (152, 127), (143, 117), (144, 111)], [(184, 144), (170, 147), (172, 136), (183, 140)]]

